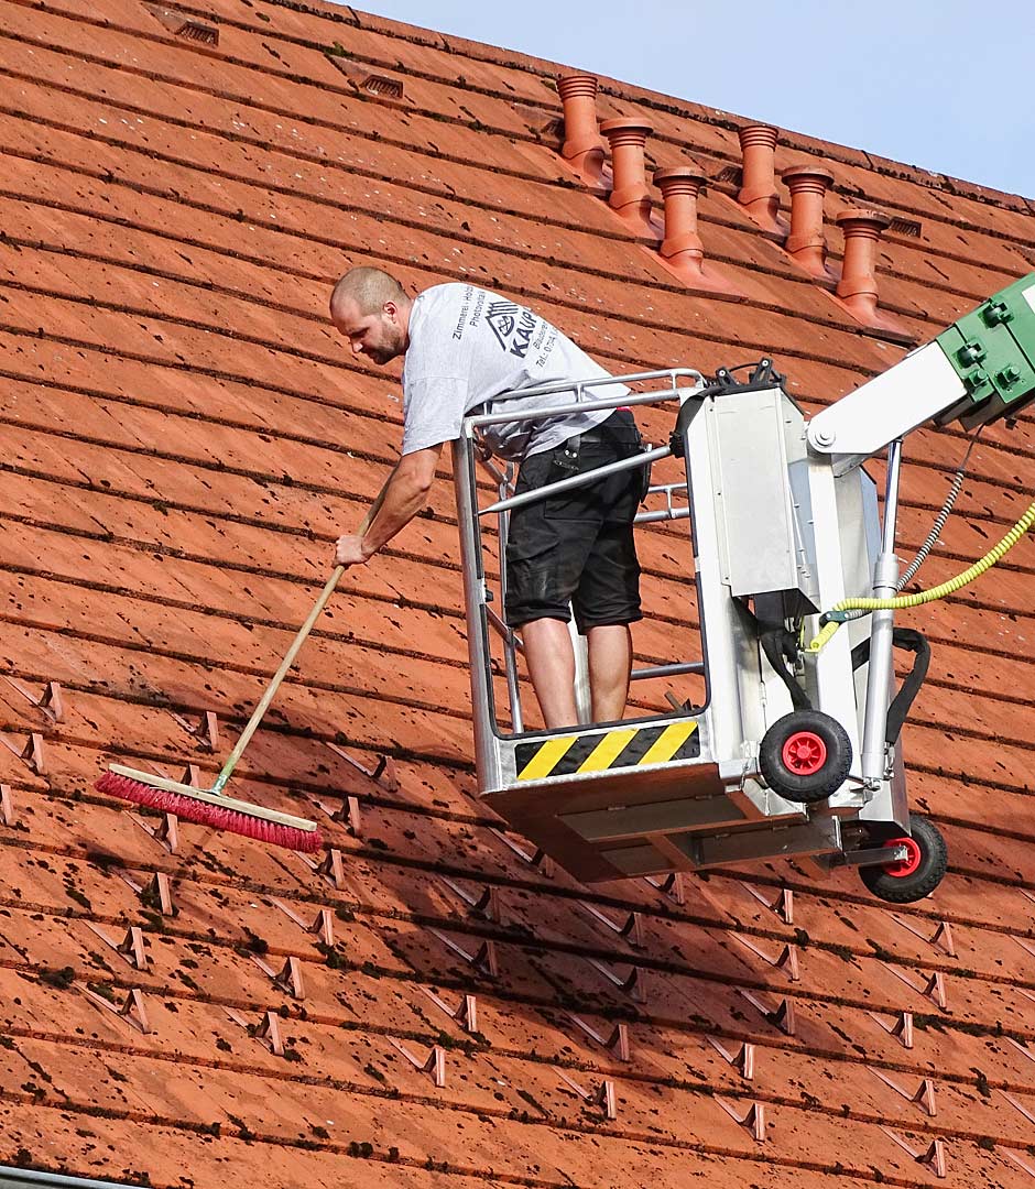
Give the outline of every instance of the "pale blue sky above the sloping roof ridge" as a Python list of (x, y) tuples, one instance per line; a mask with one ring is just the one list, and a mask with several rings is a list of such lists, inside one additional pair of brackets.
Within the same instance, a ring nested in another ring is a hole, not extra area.
[(353, 7), (1035, 199), (1035, 6), (1024, 0)]

